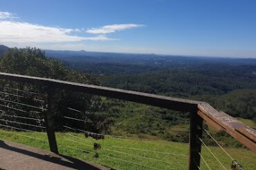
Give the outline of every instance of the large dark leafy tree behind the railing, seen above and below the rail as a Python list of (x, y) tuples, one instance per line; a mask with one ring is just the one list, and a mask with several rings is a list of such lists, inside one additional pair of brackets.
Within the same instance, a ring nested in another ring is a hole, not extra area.
[[(48, 59), (44, 55), (42, 50), (37, 48), (10, 48), (7, 52), (3, 54), (0, 58), (0, 72), (8, 72), (13, 74), (21, 74), (28, 76), (37, 76), (44, 78), (55, 78), (63, 81), (73, 81), (77, 83), (86, 83), (92, 85), (99, 85), (99, 81), (95, 76), (89, 74), (76, 72), (74, 70), (68, 69), (64, 63), (57, 61), (56, 59)], [(19, 90), (19, 92), (17, 90)], [(21, 94), (20, 91), (22, 91)], [(27, 83), (15, 83), (10, 81), (0, 81), (0, 107), (1, 110), (7, 111), (9, 114), (19, 116), (18, 111), (22, 111), (22, 116), (30, 116), (37, 109), (30, 110), (26, 105), (42, 105), (42, 108), (47, 109), (48, 103), (41, 103), (39, 100), (30, 100), (30, 98), (35, 98), (34, 93), (38, 94), (36, 98), (46, 101), (44, 94), (47, 93), (47, 88), (44, 86), (35, 86), (29, 85)], [(26, 93), (33, 92), (33, 94)], [(14, 95), (9, 95), (14, 94)], [(41, 95), (42, 94), (42, 95)], [(18, 96), (28, 96), (28, 98), (20, 98)], [(31, 96), (33, 95), (33, 96)], [(15, 103), (10, 103), (9, 100), (14, 100)], [(55, 95), (56, 107), (55, 107), (55, 127), (56, 130), (63, 130), (63, 125), (70, 124), (70, 121), (63, 119), (63, 116), (70, 116), (74, 113), (68, 111), (67, 107), (73, 106), (79, 110), (93, 110), (94, 107), (101, 107), (100, 98), (88, 95), (81, 94), (77, 92), (67, 92), (66, 90), (58, 90)], [(24, 105), (19, 105), (18, 103), (24, 103)], [(10, 107), (4, 107), (4, 106)], [(7, 110), (6, 110), (7, 108)], [(31, 112), (33, 111), (33, 112)], [(75, 113), (77, 117), (81, 119), (86, 119), (87, 117), (82, 113)], [(1, 115), (2, 118), (4, 115)], [(107, 123), (107, 116), (99, 115), (93, 121), (92, 124), (86, 125), (86, 128), (90, 131), (98, 131), (104, 127), (104, 123)], [(35, 115), (35, 118), (43, 119), (44, 114)], [(18, 118), (19, 119), (19, 118)], [(12, 118), (12, 121), (16, 121), (17, 118)], [(93, 120), (93, 118), (92, 118)], [(25, 123), (29, 123), (30, 120), (24, 120)], [(12, 123), (10, 123), (12, 125)], [(75, 127), (85, 128), (83, 124), (76, 125)], [(22, 124), (19, 127), (24, 127)], [(35, 128), (37, 129), (37, 128)]]

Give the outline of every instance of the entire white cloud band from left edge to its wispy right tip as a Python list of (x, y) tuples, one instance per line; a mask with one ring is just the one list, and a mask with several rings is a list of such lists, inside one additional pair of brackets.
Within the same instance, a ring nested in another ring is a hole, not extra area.
[[(11, 12), (0, 11), (0, 43), (62, 43), (77, 41), (110, 41), (105, 34), (129, 28), (138, 28), (138, 24), (113, 24), (101, 28), (59, 28), (56, 26), (38, 25), (35, 23), (20, 22)], [(82, 35), (85, 33), (97, 34), (94, 36)]]

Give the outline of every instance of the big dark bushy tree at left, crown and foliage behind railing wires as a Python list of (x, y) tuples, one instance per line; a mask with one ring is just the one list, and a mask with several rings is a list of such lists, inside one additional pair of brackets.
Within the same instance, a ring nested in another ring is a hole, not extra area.
[[(75, 72), (74, 70), (70, 70), (66, 67), (64, 63), (61, 61), (57, 61), (56, 59), (48, 59), (44, 55), (42, 50), (32, 47), (26, 48), (11, 48), (0, 59), (0, 72), (8, 72), (12, 74), (23, 74), (27, 76), (37, 76), (44, 78), (55, 78), (63, 81), (73, 81), (77, 83), (86, 83), (99, 85), (99, 81), (94, 76), (89, 74)], [(29, 85), (26, 83), (13, 83), (7, 81), (1, 81), (1, 90), (5, 91), (6, 87), (11, 87), (12, 89), (21, 89), (30, 92), (39, 92), (42, 94), (46, 93), (46, 88), (36, 87), (35, 85)], [(17, 93), (17, 92), (12, 92)], [(19, 92), (20, 93), (20, 92)], [(28, 94), (25, 94), (28, 96)], [(38, 97), (38, 96), (37, 96)], [(24, 98), (19, 98), (13, 96), (6, 96), (1, 94), (1, 98), (7, 98), (8, 100), (15, 100), (19, 103), (30, 104), (30, 105), (38, 105), (39, 103), (35, 102), (35, 100), (24, 100)], [(71, 116), (80, 119), (85, 119), (86, 115), (84, 115), (83, 111), (88, 111), (89, 109), (95, 107), (94, 105), (98, 105), (100, 103), (100, 98), (89, 94), (82, 94), (77, 92), (68, 92), (66, 90), (59, 89), (57, 90), (57, 95), (55, 96), (55, 100), (57, 100), (57, 106), (55, 110), (55, 119), (56, 119), (56, 127), (57, 129), (62, 129), (63, 124), (72, 124), (71, 126), (77, 128), (84, 128), (85, 125), (82, 123), (77, 123), (72, 120), (65, 120), (63, 116)], [(8, 102), (1, 101), (2, 105), (9, 105)], [(13, 104), (13, 103), (12, 103)], [(14, 104), (12, 107), (23, 109), (28, 111), (28, 108)], [(73, 113), (68, 110), (67, 107), (74, 107), (75, 109), (81, 110), (80, 113)], [(12, 114), (17, 114), (14, 110), (8, 109), (8, 111)], [(32, 115), (26, 115), (32, 116)], [(34, 116), (34, 115), (33, 115)], [(41, 116), (37, 116), (38, 118), (42, 118)], [(94, 118), (95, 119), (95, 118)], [(104, 118), (99, 117), (100, 121), (104, 121)], [(97, 121), (96, 121), (97, 122)], [(95, 126), (91, 126), (95, 127)], [(93, 130), (93, 129), (89, 129)]]

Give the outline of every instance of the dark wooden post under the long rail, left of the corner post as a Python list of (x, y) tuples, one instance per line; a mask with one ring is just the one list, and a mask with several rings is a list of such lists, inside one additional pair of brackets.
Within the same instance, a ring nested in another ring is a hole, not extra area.
[(54, 130), (55, 91), (55, 87), (48, 86), (48, 110), (44, 111), (44, 120), (50, 150), (59, 154)]

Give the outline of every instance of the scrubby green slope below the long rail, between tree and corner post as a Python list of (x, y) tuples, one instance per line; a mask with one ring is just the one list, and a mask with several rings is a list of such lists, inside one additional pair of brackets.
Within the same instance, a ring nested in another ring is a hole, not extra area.
[[(111, 125), (111, 134), (118, 136), (134, 136), (140, 138), (165, 139), (170, 130), (188, 130), (189, 118), (182, 118), (177, 111), (161, 109), (149, 105), (118, 100), (110, 100), (108, 106), (116, 112), (117, 118), (113, 118), (114, 124)], [(118, 110), (118, 111), (115, 111)], [(165, 111), (166, 113), (163, 113)], [(165, 117), (172, 117), (173, 120), (165, 120)], [(176, 129), (182, 126), (182, 129)]]

